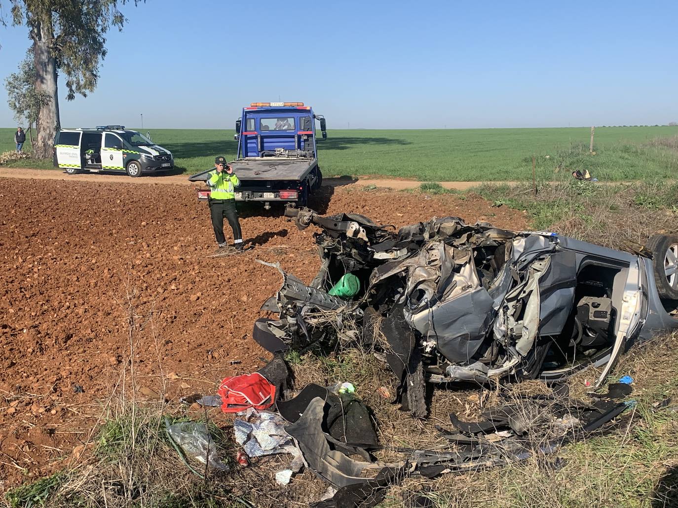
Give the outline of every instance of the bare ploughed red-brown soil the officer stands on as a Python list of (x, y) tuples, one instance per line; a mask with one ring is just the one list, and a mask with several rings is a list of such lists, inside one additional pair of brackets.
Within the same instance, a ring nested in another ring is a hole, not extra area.
[[(473, 195), (324, 187), (310, 206), (396, 226), (447, 215), (526, 226)], [(24, 470), (45, 475), (77, 459), (123, 379), (129, 397), (130, 316), (139, 397), (142, 387), (165, 391), (176, 406), (270, 358), (252, 323), (281, 278), (255, 259), (309, 282), (315, 229), (297, 230), (281, 209), (247, 208), (254, 248), (210, 257), (208, 215), (185, 185), (0, 179), (0, 489)]]

